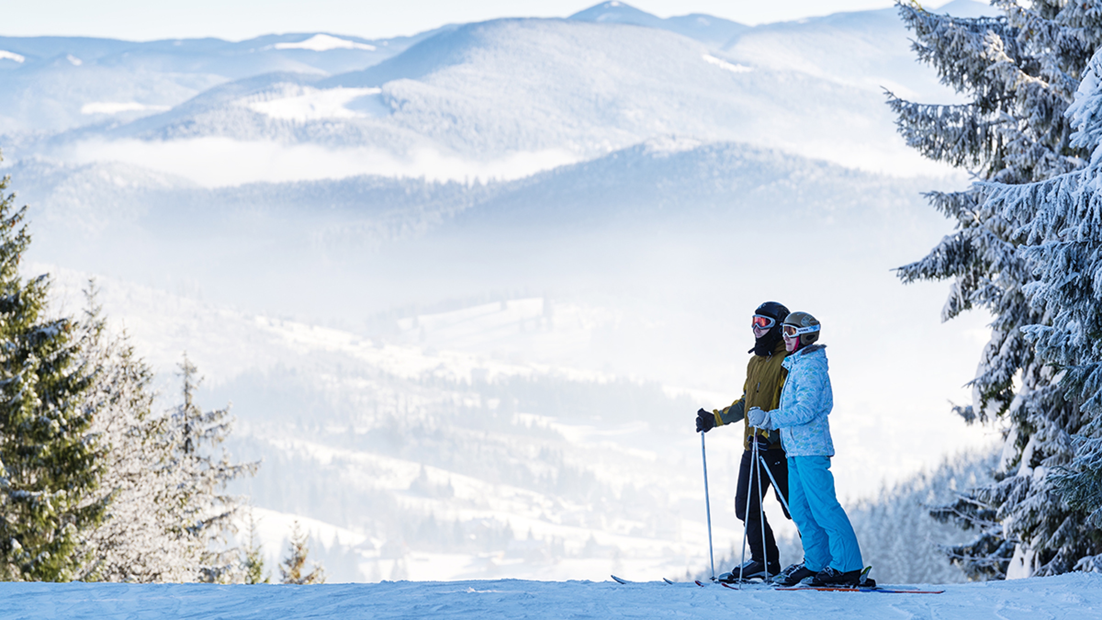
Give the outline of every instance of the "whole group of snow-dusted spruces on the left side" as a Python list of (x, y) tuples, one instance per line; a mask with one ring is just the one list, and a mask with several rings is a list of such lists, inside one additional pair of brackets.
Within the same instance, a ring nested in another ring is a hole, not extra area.
[[(256, 473), (222, 448), (229, 408), (203, 410), (186, 354), (181, 403), (155, 410), (153, 371), (128, 336), (111, 334), (85, 289), (78, 317), (50, 307), (47, 275), (20, 270), (31, 235), (26, 206), (0, 180), (0, 580), (269, 580), (250, 527), (233, 545), (244, 499), (228, 482)], [(306, 570), (298, 523), (283, 582), (324, 581)]]

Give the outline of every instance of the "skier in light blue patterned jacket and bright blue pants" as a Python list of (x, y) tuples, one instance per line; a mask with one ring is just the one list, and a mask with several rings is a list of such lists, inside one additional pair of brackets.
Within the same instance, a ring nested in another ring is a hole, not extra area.
[(795, 586), (812, 577), (812, 586), (857, 586), (862, 560), (857, 536), (834, 494), (830, 458), (834, 445), (827, 416), (834, 405), (820, 324), (807, 312), (792, 312), (781, 325), (788, 370), (776, 408), (750, 408), (754, 428), (779, 429), (788, 452), (788, 509), (800, 530), (803, 562), (793, 564), (774, 581)]

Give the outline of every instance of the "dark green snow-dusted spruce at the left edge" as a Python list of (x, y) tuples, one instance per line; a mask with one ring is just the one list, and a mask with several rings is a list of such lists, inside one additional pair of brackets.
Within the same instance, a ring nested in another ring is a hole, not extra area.
[(0, 578), (66, 581), (82, 566), (80, 536), (104, 512), (102, 467), (89, 438), (74, 325), (47, 318), (50, 279), (24, 280), (26, 207), (0, 181)]

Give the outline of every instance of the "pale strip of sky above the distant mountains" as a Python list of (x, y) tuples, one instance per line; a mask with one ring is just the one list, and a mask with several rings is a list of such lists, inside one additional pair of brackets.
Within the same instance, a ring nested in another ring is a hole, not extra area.
[[(947, 0), (937, 2), (944, 3)], [(17, 0), (3, 2), (0, 35), (86, 35), (149, 41), (280, 32), (369, 39), (450, 22), (566, 17), (598, 0)], [(633, 0), (659, 17), (709, 13), (746, 24), (890, 7), (892, 0)]]

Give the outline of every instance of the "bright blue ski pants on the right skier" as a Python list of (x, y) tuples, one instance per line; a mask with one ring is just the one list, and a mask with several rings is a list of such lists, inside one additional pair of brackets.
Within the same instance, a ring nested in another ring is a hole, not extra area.
[(809, 570), (864, 568), (857, 535), (834, 495), (830, 457), (788, 457), (788, 510), (800, 530)]

